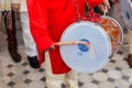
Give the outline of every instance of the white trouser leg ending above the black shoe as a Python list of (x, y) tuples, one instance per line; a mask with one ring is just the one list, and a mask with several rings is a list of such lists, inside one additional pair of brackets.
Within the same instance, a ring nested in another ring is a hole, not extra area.
[(20, 19), (22, 24), (23, 41), (28, 56), (36, 56), (37, 51), (34, 43), (34, 40), (30, 32), (29, 15), (28, 12), (20, 12)]

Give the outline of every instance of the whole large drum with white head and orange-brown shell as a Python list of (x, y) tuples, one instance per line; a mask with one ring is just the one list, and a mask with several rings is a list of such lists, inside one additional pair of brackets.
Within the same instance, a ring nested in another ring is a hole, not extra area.
[(87, 42), (61, 45), (63, 61), (73, 70), (92, 74), (109, 62), (109, 57), (122, 43), (122, 29), (117, 21), (102, 16), (99, 23), (79, 21), (70, 24), (62, 34), (61, 42)]

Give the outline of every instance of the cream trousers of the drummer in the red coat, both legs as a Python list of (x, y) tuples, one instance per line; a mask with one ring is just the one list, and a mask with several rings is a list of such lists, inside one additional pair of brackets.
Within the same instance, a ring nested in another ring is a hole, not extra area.
[(67, 88), (78, 88), (78, 74), (69, 72), (67, 74), (54, 75), (51, 69), (48, 52), (45, 52), (45, 70), (46, 70), (46, 86), (47, 88), (62, 88), (64, 80), (67, 82)]

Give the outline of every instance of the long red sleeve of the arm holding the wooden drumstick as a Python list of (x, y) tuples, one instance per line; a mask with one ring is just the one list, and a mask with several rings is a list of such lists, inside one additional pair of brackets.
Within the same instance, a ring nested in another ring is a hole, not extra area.
[(47, 30), (47, 12), (45, 0), (26, 0), (31, 33), (38, 51), (48, 48), (53, 41)]

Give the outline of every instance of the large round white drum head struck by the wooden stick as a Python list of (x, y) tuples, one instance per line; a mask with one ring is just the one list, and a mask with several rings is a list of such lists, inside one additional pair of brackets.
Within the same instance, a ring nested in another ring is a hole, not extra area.
[(82, 21), (69, 25), (61, 42), (85, 41), (90, 44), (62, 45), (59, 52), (64, 62), (73, 70), (91, 74), (100, 70), (111, 55), (111, 42), (105, 30), (95, 23)]

